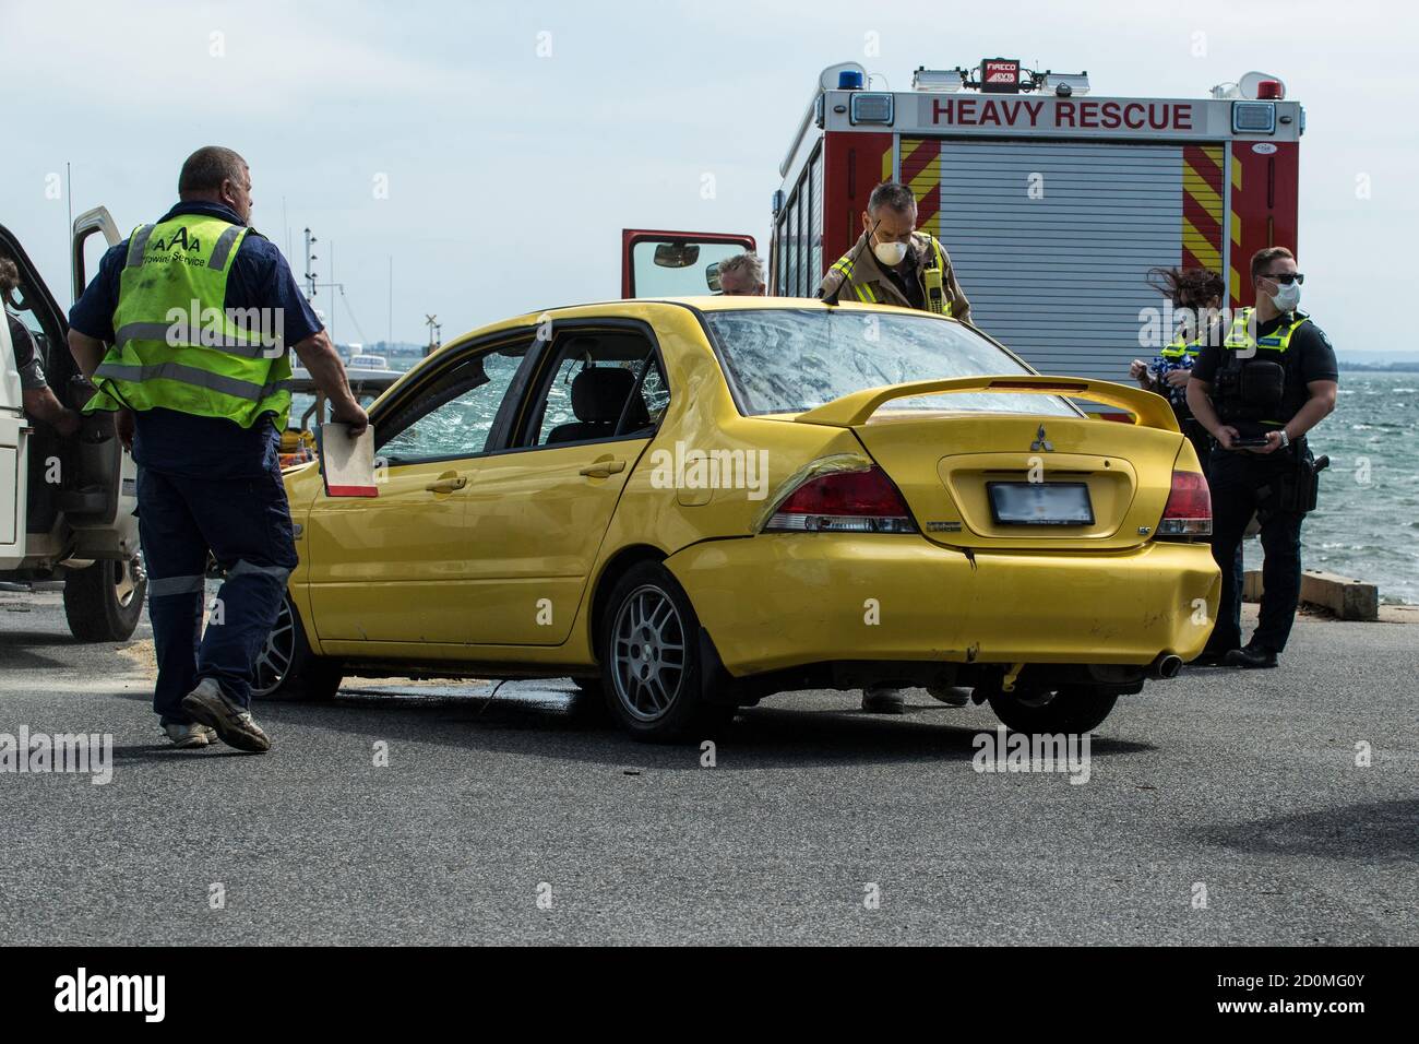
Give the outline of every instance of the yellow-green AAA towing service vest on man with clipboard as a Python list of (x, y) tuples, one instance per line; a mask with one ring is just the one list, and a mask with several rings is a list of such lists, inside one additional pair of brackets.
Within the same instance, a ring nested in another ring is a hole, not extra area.
[(285, 428), (285, 342), (272, 344), (265, 318), (238, 325), (226, 311), (227, 276), (247, 232), (204, 214), (133, 230), (119, 277), (114, 347), (94, 372), (98, 393), (85, 413), (162, 408), (243, 428), (275, 413), (277, 430)]

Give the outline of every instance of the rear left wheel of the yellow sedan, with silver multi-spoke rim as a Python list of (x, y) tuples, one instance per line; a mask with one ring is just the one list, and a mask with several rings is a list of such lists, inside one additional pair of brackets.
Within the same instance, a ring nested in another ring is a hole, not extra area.
[(637, 740), (700, 740), (734, 719), (735, 707), (704, 700), (698, 636), (694, 605), (666, 567), (640, 562), (616, 581), (597, 641), (602, 687)]

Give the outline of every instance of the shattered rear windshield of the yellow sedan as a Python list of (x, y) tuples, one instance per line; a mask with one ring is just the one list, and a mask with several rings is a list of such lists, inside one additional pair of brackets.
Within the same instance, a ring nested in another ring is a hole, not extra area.
[[(931, 315), (752, 308), (704, 317), (749, 415), (802, 413), (881, 385), (1032, 372), (968, 327)], [(894, 399), (891, 410), (1078, 416), (1057, 396), (1013, 392)]]

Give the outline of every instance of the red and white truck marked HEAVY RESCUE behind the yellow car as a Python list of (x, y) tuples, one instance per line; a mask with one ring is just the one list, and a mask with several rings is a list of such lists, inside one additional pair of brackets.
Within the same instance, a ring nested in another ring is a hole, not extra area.
[[(918, 229), (951, 254), (972, 322), (1044, 374), (1127, 381), (1142, 317), (1162, 305), (1149, 268), (1218, 271), (1236, 308), (1250, 304), (1256, 250), (1296, 250), (1305, 116), (1276, 77), (1249, 72), (1206, 98), (1105, 98), (1087, 74), (988, 58), (918, 68), (910, 91), (868, 82), (857, 62), (819, 77), (779, 165), (771, 294), (815, 295), (861, 234), (873, 187), (900, 180)], [(647, 270), (653, 250), (673, 266), (701, 240), (707, 257), (752, 243), (626, 234), (627, 261), (639, 243)], [(705, 271), (680, 293), (707, 281), (714, 291)], [(648, 295), (624, 278), (623, 293)]]

